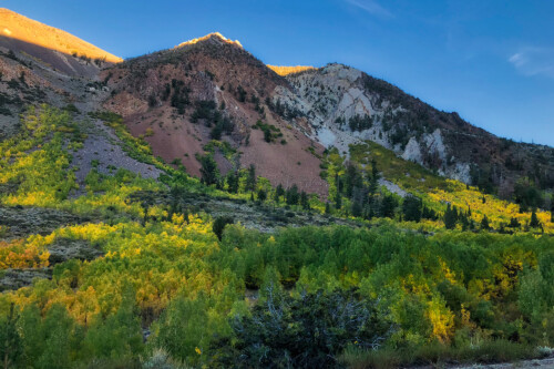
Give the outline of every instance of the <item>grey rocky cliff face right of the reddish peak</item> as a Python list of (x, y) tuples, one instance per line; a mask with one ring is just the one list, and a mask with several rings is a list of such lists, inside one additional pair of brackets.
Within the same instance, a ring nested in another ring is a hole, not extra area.
[(340, 64), (286, 75), (274, 100), (308, 117), (311, 139), (348, 153), (370, 140), (439, 174), (509, 196), (527, 177), (554, 186), (554, 150), (504, 140), (410, 96), (400, 89)]

